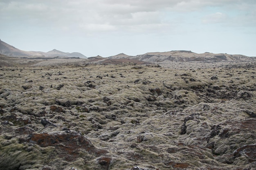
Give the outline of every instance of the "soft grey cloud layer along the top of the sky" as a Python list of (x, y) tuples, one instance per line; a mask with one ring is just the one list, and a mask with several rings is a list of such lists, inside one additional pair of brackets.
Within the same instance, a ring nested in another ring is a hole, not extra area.
[[(166, 28), (172, 22), (166, 12), (184, 14), (207, 7), (240, 10), (242, 14), (235, 16), (236, 19), (256, 24), (254, 0), (3, 0), (0, 2), (0, 16), (4, 21), (19, 20), (25, 24), (56, 26), (67, 30), (134, 31)], [(243, 11), (247, 11), (247, 16)], [(229, 22), (229, 17), (225, 11), (215, 11), (201, 19), (202, 23), (209, 24)]]

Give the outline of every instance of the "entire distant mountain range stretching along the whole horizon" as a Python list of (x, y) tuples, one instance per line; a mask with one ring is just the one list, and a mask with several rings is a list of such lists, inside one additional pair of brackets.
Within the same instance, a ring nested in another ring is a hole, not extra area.
[[(22, 58), (35, 58), (35, 59), (47, 59), (50, 58), (87, 58), (81, 53), (65, 53), (56, 49), (48, 51), (47, 53), (41, 51), (22, 51), (0, 40), (0, 54), (10, 57), (22, 57)], [(120, 60), (120, 61), (117, 61)], [(168, 51), (168, 52), (155, 52), (145, 53), (142, 55), (130, 56), (124, 53), (110, 56), (110, 57), (89, 57), (89, 62), (98, 63), (117, 63), (128, 61), (140, 61), (140, 62), (221, 62), (221, 61), (256, 61), (256, 57), (247, 57), (245, 55), (230, 55), (227, 53), (193, 53), (191, 51)]]

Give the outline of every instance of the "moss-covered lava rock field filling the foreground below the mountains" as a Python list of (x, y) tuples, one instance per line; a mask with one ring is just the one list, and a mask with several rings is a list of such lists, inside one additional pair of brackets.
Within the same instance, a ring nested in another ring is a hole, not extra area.
[(255, 61), (100, 58), (2, 64), (1, 170), (256, 169)]

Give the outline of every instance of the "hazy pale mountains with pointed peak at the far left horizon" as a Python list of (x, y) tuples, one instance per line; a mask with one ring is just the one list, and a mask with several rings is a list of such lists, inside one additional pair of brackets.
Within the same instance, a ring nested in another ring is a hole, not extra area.
[(3, 41), (0, 40), (0, 54), (7, 55), (10, 57), (79, 57), (79, 58), (87, 58), (85, 55), (81, 53), (65, 53), (62, 51), (58, 51), (56, 49), (52, 51), (48, 51), (47, 53), (41, 51), (22, 51), (20, 49), (15, 48)]

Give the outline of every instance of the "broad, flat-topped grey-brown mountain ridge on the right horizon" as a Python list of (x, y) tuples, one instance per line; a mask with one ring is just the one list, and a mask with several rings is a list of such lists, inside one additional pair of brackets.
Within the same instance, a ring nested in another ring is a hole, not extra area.
[(142, 55), (128, 56), (125, 54), (119, 54), (111, 56), (109, 58), (115, 59), (132, 59), (140, 60), (144, 62), (191, 62), (191, 61), (202, 61), (202, 62), (218, 62), (218, 61), (254, 61), (256, 57), (247, 57), (245, 55), (229, 55), (229, 54), (214, 54), (214, 53), (193, 53), (191, 51), (168, 51), (168, 52), (155, 52), (145, 53)]

